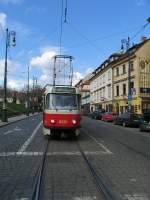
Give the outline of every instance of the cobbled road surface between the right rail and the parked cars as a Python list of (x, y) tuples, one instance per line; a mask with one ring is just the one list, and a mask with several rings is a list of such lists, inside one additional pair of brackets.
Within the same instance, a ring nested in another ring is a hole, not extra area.
[[(150, 138), (138, 129), (122, 128), (84, 118), (83, 130), (89, 140), (103, 144), (110, 156), (89, 156), (99, 173), (123, 199), (150, 199)], [(147, 133), (149, 134), (149, 133)], [(83, 145), (87, 145), (83, 142)]]

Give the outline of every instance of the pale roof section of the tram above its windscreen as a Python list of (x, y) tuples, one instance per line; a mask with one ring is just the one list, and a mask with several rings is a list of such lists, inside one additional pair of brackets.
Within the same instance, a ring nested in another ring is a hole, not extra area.
[(44, 93), (70, 93), (70, 94), (80, 94), (80, 91), (77, 87), (68, 86), (68, 85), (46, 85), (44, 87)]

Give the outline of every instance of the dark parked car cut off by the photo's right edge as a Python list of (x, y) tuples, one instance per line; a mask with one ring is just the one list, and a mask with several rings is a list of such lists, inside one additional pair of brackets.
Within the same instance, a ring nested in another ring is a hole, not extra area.
[(150, 113), (144, 113), (140, 120), (140, 131), (150, 131)]

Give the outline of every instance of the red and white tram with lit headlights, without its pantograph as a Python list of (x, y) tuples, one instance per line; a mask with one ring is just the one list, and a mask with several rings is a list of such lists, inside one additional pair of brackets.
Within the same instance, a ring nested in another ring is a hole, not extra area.
[(79, 89), (72, 86), (47, 85), (44, 91), (43, 134), (79, 135), (81, 110)]

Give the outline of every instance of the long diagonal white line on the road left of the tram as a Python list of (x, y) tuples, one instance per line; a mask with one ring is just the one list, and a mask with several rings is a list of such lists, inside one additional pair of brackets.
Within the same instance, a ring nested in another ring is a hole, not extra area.
[(21, 146), (21, 148), (18, 150), (17, 153), (22, 153), (27, 149), (27, 147), (29, 146), (29, 144), (33, 140), (34, 136), (36, 135), (37, 131), (39, 130), (41, 124), (42, 124), (42, 121), (37, 125), (37, 127), (33, 131), (32, 135), (25, 141), (25, 143)]

